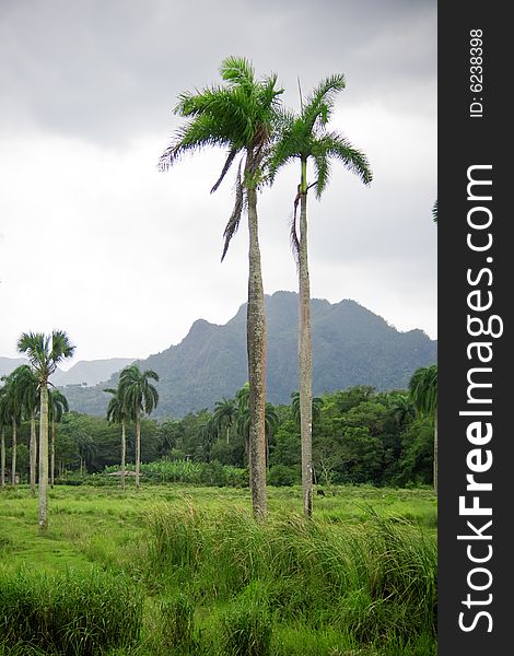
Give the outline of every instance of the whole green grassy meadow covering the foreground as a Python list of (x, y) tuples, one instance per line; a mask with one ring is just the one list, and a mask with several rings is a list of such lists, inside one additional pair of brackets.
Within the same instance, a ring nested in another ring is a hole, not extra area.
[(436, 496), (365, 485), (0, 491), (0, 655), (436, 654)]

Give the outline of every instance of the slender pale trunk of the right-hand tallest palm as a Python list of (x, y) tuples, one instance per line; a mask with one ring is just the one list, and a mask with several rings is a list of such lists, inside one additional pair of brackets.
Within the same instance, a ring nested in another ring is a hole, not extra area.
[(302, 162), (299, 250), (299, 386), (302, 440), (303, 512), (313, 514), (313, 352), (311, 335), (311, 285), (307, 258), (306, 163)]

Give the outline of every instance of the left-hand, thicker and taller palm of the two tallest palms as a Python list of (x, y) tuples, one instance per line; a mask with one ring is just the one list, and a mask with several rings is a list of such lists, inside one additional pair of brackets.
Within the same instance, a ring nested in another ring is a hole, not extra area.
[(249, 61), (227, 57), (221, 65), (223, 85), (183, 93), (175, 113), (189, 118), (160, 159), (161, 169), (173, 165), (182, 155), (206, 147), (227, 150), (215, 191), (231, 165), (242, 154), (236, 173), (235, 204), (224, 231), (225, 257), (232, 236), (237, 231), (243, 210), (247, 210), (248, 303), (246, 341), (248, 352), (250, 411), (250, 477), (254, 514), (264, 517), (266, 500), (266, 320), (258, 239), (257, 191), (264, 183), (262, 164), (274, 133), (279, 95), (277, 75), (256, 80)]

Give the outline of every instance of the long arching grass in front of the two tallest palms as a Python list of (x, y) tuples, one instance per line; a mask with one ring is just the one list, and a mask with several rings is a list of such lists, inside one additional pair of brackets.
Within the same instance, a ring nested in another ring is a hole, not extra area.
[(232, 602), (259, 582), (261, 607), (278, 622), (330, 625), (360, 644), (435, 636), (436, 541), (420, 527), (372, 512), (344, 527), (295, 514), (257, 523), (244, 511), (192, 504), (160, 504), (148, 519), (149, 582), (157, 588)]

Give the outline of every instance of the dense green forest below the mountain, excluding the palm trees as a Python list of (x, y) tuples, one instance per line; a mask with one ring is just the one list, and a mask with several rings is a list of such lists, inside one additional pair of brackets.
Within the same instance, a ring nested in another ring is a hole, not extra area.
[[(359, 385), (316, 397), (313, 405), (314, 475), (318, 485), (433, 483), (433, 420), (417, 415), (407, 390), (376, 391)], [(238, 406), (236, 396), (221, 399), (212, 410), (202, 409), (179, 420), (143, 418), (143, 484), (145, 480), (165, 480), (166, 471), (178, 472), (180, 467), (189, 473), (176, 473), (178, 482), (247, 484), (247, 425), (244, 410)], [(297, 395), (293, 395), (290, 405), (268, 403), (267, 419), (269, 484), (300, 483)], [(23, 422), (17, 431), (16, 459), (23, 480), (28, 477), (30, 433), (30, 422)], [(129, 464), (135, 461), (135, 424), (129, 422)], [(5, 443), (9, 468), (9, 426), (5, 426)], [(190, 464), (189, 469), (185, 461)], [(55, 462), (57, 483), (79, 483), (85, 475), (98, 475), (105, 468), (116, 471), (120, 462), (120, 425), (77, 411), (65, 413), (56, 425)], [(149, 466), (150, 462), (154, 465)], [(166, 469), (155, 462), (175, 462), (175, 466)], [(241, 471), (236, 475), (234, 468)], [(196, 472), (192, 478), (184, 478), (191, 477), (191, 472)]]

